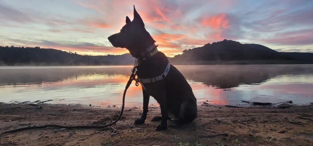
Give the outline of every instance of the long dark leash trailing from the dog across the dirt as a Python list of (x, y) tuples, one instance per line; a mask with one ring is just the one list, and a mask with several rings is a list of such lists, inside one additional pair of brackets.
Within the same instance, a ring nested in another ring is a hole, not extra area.
[[(131, 72), (132, 72), (131, 76), (129, 77), (129, 80), (128, 80), (127, 84), (126, 84), (126, 87), (125, 87), (125, 90), (124, 90), (124, 93), (123, 93), (123, 103), (122, 103), (121, 113), (120, 113), (119, 117), (115, 121), (113, 121), (112, 123), (105, 124), (105, 125), (80, 125), (80, 126), (64, 126), (64, 125), (49, 124), (49, 125), (42, 125), (42, 126), (23, 127), (23, 128), (17, 128), (17, 129), (13, 129), (13, 130), (4, 131), (4, 132), (0, 133), (0, 136), (2, 136), (3, 134), (6, 134), (6, 133), (12, 133), (12, 132), (23, 131), (23, 130), (28, 130), (28, 129), (46, 128), (46, 127), (59, 127), (59, 128), (72, 129), (72, 128), (105, 128), (105, 127), (112, 126), (117, 121), (119, 121), (121, 119), (121, 117), (122, 117), (122, 114), (123, 114), (123, 111), (124, 111), (124, 106), (125, 106), (126, 91), (127, 91), (128, 87), (131, 85), (131, 82), (133, 80), (135, 80), (135, 77), (136, 77), (136, 67), (137, 66), (138, 66), (138, 59), (135, 60), (134, 68), (131, 70)], [(137, 82), (136, 82), (136, 84), (137, 84)]]

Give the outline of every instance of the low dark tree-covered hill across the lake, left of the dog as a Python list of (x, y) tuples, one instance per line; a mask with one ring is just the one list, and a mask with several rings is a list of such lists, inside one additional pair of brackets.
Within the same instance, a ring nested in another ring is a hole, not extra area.
[(0, 46), (0, 65), (125, 65), (133, 62), (130, 54), (89, 56), (50, 48)]

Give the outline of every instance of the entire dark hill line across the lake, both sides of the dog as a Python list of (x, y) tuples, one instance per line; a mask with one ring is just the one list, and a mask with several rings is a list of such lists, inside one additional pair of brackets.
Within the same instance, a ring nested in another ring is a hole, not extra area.
[[(313, 64), (313, 53), (277, 52), (232, 40), (208, 43), (169, 58), (172, 64)], [(0, 65), (130, 65), (130, 54), (89, 56), (40, 47), (1, 47)]]

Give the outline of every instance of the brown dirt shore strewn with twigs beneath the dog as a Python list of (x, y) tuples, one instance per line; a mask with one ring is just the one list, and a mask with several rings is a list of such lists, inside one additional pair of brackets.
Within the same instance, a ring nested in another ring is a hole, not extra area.
[[(40, 107), (41, 106), (41, 107)], [(85, 109), (85, 110), (77, 110)], [(114, 120), (121, 107), (89, 107), (0, 103), (0, 132), (44, 124), (104, 124)], [(198, 117), (179, 128), (155, 131), (160, 108), (151, 105), (143, 125), (133, 125), (141, 108), (127, 107), (111, 129), (44, 128), (4, 134), (0, 145), (313, 145), (313, 106), (232, 108), (198, 106)], [(168, 120), (168, 123), (170, 120)], [(220, 134), (218, 136), (218, 134)]]

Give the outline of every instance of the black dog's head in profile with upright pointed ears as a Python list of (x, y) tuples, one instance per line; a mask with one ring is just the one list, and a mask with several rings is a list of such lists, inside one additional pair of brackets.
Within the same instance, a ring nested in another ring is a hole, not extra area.
[(126, 16), (126, 24), (119, 33), (108, 37), (114, 47), (126, 48), (133, 57), (141, 57), (144, 50), (155, 43), (151, 35), (146, 31), (140, 15), (134, 5), (134, 19), (131, 21)]

